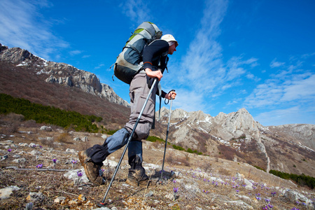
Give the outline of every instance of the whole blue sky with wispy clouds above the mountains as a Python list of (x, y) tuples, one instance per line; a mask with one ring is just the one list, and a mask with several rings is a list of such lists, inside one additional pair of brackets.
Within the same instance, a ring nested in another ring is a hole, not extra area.
[(179, 41), (162, 78), (178, 94), (174, 109), (245, 108), (265, 126), (315, 124), (314, 11), (313, 0), (0, 0), (0, 43), (95, 73), (129, 102), (109, 67), (151, 21)]

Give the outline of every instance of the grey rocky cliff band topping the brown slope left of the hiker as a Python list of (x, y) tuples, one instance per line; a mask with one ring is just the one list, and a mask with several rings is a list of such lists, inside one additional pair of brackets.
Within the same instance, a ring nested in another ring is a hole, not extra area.
[(0, 60), (13, 62), (17, 66), (35, 65), (36, 74), (44, 75), (47, 83), (58, 83), (69, 87), (78, 87), (84, 92), (109, 99), (110, 102), (129, 107), (128, 102), (120, 98), (109, 85), (100, 83), (94, 73), (83, 71), (69, 64), (50, 62), (21, 48), (8, 48), (0, 43)]

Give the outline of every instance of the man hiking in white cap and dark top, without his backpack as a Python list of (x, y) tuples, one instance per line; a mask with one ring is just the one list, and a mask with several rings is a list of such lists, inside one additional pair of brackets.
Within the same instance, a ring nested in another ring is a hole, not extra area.
[[(111, 137), (108, 137), (103, 145), (96, 144), (86, 151), (78, 153), (81, 165), (85, 169), (87, 178), (96, 185), (104, 184), (105, 180), (99, 174), (100, 168), (103, 166), (103, 161), (111, 153), (117, 151), (127, 144), (127, 141), (134, 129), (142, 106), (146, 101), (146, 97), (151, 90), (154, 78), (160, 81), (162, 73), (167, 67), (167, 55), (172, 55), (176, 51), (179, 43), (174, 36), (167, 34), (146, 45), (143, 52), (144, 66), (137, 73), (130, 83), (130, 106), (131, 114), (129, 122), (126, 123), (123, 129), (118, 130)], [(153, 87), (153, 93), (160, 95), (166, 99), (175, 99), (176, 92), (166, 93), (160, 89), (160, 84), (157, 83)], [(144, 167), (142, 167), (142, 139), (148, 138), (151, 127), (155, 118), (155, 94), (151, 95), (148, 104), (142, 113), (139, 123), (134, 131), (132, 141), (128, 146), (128, 162), (130, 169), (127, 180), (133, 183), (146, 184), (148, 176)]]

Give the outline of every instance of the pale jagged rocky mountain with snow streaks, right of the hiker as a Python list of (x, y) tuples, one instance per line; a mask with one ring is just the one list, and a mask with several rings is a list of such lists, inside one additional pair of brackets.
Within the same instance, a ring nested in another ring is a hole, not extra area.
[[(169, 110), (162, 108), (167, 125)], [(246, 109), (212, 117), (202, 111), (172, 111), (169, 142), (207, 155), (247, 162), (266, 171), (315, 173), (315, 125), (265, 127)]]

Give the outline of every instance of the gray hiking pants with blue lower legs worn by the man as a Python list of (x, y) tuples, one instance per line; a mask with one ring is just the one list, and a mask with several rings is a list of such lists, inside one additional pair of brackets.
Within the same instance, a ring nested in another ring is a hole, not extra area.
[[(102, 146), (96, 144), (87, 149), (87, 155), (94, 163), (102, 165), (102, 162), (109, 154), (117, 151), (119, 148), (122, 148), (125, 146), (125, 144), (127, 144), (130, 134), (134, 129), (134, 125), (136, 124), (139, 113), (144, 106), (146, 97), (148, 97), (152, 83), (153, 79), (146, 76), (146, 73), (138, 73), (136, 76), (134, 76), (132, 83), (130, 84), (131, 114), (129, 122), (126, 123), (123, 129), (118, 130), (111, 137), (108, 137)], [(153, 87), (151, 97), (148, 99), (148, 103), (146, 104), (144, 112), (142, 113), (142, 116), (136, 127), (136, 130), (134, 131), (134, 137), (132, 137), (132, 141), (130, 141), (128, 147), (128, 158), (138, 155), (142, 162), (141, 139), (148, 138), (151, 126), (153, 124), (155, 112), (155, 93), (157, 90), (158, 85), (155, 85), (155, 87)]]

